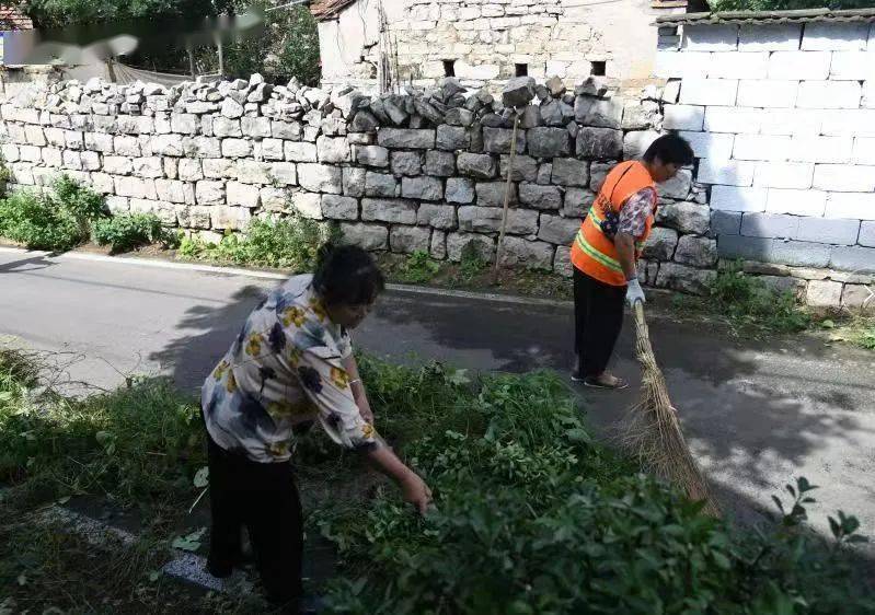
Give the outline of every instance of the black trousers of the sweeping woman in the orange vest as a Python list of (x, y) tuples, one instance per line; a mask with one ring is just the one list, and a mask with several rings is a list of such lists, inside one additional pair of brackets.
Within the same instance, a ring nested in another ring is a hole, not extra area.
[(608, 367), (620, 329), (626, 287), (610, 286), (574, 268), (574, 351), (578, 374), (600, 375)]

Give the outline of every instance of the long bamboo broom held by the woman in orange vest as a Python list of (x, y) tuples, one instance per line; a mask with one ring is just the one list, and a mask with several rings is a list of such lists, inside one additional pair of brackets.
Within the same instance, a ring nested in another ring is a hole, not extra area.
[(668, 397), (666, 380), (651, 346), (644, 306), (635, 303), (635, 351), (642, 367), (637, 403), (631, 408), (623, 446), (636, 455), (648, 471), (682, 488), (691, 500), (704, 501), (704, 511), (719, 517), (705, 477), (695, 463)]

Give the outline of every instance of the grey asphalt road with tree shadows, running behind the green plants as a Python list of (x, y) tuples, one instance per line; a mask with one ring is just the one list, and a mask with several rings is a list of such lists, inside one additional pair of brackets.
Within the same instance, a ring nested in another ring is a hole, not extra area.
[[(60, 352), (65, 378), (105, 388), (163, 373), (199, 386), (260, 297), (278, 283), (218, 272), (0, 251), (0, 335)], [(356, 343), (402, 361), (436, 358), (476, 370), (565, 370), (571, 311), (393, 291)], [(805, 336), (751, 341), (656, 318), (651, 333), (688, 440), (718, 499), (739, 519), (804, 475), (819, 485), (813, 522), (841, 508), (875, 535), (873, 355)], [(613, 369), (636, 384), (632, 327)], [(73, 386), (76, 388), (76, 386)], [(633, 401), (578, 390), (610, 433)]]

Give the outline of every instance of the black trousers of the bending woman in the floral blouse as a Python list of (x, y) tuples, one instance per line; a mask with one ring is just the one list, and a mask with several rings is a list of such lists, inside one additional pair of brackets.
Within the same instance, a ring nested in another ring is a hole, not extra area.
[(303, 525), (291, 464), (253, 462), (207, 439), (209, 571), (224, 577), (240, 564), (240, 533), (245, 525), (267, 599), (293, 604), (302, 593)]

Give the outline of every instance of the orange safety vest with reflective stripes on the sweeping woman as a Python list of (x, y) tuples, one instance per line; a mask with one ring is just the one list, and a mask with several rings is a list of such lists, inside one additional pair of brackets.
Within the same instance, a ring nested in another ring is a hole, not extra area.
[[(613, 244), (613, 232), (606, 234), (606, 230), (612, 225), (617, 230), (617, 219), (620, 210), (625, 205), (629, 197), (642, 188), (652, 187), (656, 189), (653, 177), (647, 169), (638, 161), (622, 162), (608, 173), (605, 184), (601, 186), (596, 201), (589, 208), (589, 213), (580, 224), (580, 230), (572, 245), (572, 264), (580, 271), (606, 285), (626, 286), (623, 268), (617, 256), (617, 247)], [(647, 236), (651, 234), (656, 206), (647, 217), (644, 227), (644, 234), (636, 237), (635, 259), (641, 256), (642, 247)], [(606, 224), (607, 222), (607, 224)]]

